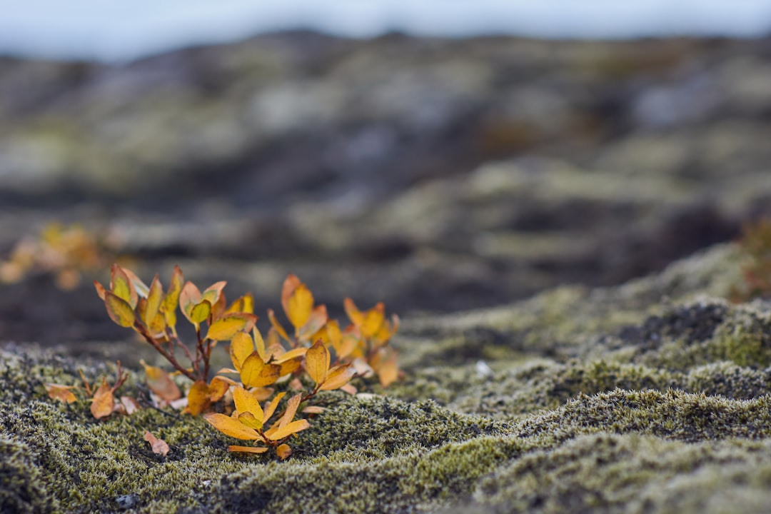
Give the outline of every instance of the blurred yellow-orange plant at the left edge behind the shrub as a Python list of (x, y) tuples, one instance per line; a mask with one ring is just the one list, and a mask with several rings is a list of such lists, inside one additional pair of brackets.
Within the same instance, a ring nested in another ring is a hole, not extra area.
[(99, 269), (110, 254), (109, 244), (83, 227), (49, 223), (37, 237), (20, 240), (8, 260), (0, 263), (0, 282), (18, 282), (39, 271), (53, 274), (59, 288), (71, 290), (80, 283), (82, 272)]

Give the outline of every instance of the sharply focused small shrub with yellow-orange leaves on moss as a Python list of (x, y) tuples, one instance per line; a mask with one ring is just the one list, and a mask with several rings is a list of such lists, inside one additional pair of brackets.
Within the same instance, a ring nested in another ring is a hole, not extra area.
[[(313, 294), (295, 275), (287, 277), (281, 290), (281, 305), (294, 331), (290, 335), (274, 311), (268, 310), (271, 328), (266, 338), (255, 326), (258, 317), (251, 294), (228, 305), (225, 282), (200, 291), (192, 282), (184, 281), (178, 266), (165, 293), (157, 275), (147, 286), (131, 270), (117, 264), (110, 270), (109, 289), (96, 281), (94, 286), (116, 324), (136, 331), (177, 374), (192, 381), (185, 412), (206, 412), (207, 422), (224, 434), (262, 444), (232, 445), (228, 448), (231, 452), (263, 453), (274, 448), (286, 459), (291, 454), (288, 440), (310, 426), (307, 419), (295, 420), (298, 410), (306, 414), (323, 411), (318, 405), (300, 409), (304, 402), (319, 391), (342, 389), (355, 394), (356, 389), (349, 384), (355, 376), (377, 375), (384, 387), (399, 376), (396, 352), (389, 346), (399, 329), (396, 315), (386, 320), (383, 304), (359, 311), (346, 298), (345, 311), (352, 323), (341, 331), (338, 322), (329, 319), (325, 305), (315, 305)], [(194, 327), (193, 344), (181, 341), (177, 333), (177, 308)], [(230, 342), (233, 368), (221, 369), (209, 380), (211, 353), (219, 341)], [(180, 391), (170, 375), (142, 364), (153, 393), (174, 405)], [(238, 380), (226, 376), (231, 374)], [(283, 390), (277, 393), (277, 388)], [(290, 391), (295, 394), (271, 423)], [(66, 389), (56, 390), (62, 399), (69, 398), (67, 393)], [(231, 398), (234, 410), (227, 406)], [(226, 400), (224, 409), (230, 410), (230, 415), (210, 412), (220, 400)], [(261, 401), (267, 401), (264, 407)]]

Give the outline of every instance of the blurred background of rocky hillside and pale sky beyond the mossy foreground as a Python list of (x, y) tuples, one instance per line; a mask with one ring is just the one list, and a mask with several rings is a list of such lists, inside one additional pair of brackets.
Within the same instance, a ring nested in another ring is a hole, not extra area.
[(52, 220), (102, 255), (6, 273), (0, 339), (125, 337), (116, 256), (402, 317), (660, 270), (771, 214), (769, 34), (752, 0), (2, 0), (0, 258)]

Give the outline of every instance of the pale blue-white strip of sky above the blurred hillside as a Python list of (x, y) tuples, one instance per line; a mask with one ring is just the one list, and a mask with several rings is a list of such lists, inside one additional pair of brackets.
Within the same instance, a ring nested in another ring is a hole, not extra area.
[(367, 38), (771, 33), (771, 0), (0, 0), (0, 54), (122, 62), (261, 32)]

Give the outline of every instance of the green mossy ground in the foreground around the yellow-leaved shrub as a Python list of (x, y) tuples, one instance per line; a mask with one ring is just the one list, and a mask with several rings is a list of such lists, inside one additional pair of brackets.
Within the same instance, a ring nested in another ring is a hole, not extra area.
[[(408, 320), (405, 378), (385, 396), (323, 395), (285, 462), (230, 454), (177, 412), (96, 421), (42, 385), (104, 365), (6, 348), (0, 511), (769, 510), (771, 305), (719, 297), (734, 257), (718, 247), (621, 287)], [(143, 398), (141, 374), (122, 392)]]

